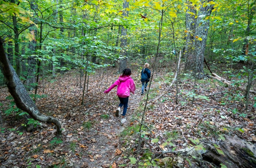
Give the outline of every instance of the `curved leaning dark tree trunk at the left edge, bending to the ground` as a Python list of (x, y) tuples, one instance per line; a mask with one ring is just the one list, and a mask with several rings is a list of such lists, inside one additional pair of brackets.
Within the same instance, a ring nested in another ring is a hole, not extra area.
[(47, 117), (40, 113), (33, 100), (30, 98), (21, 80), (5, 55), (3, 41), (0, 38), (0, 69), (7, 80), (7, 87), (18, 108), (26, 111), (30, 117), (40, 122), (54, 123), (57, 127), (57, 135), (61, 135), (61, 123), (53, 117)]

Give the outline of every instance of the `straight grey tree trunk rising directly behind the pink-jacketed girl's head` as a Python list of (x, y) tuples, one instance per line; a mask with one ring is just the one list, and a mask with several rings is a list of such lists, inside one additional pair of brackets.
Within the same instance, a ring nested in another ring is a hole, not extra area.
[[(129, 2), (127, 0), (124, 0), (123, 2), (123, 17), (128, 16), (128, 11), (126, 10), (129, 8)], [(127, 46), (127, 29), (122, 26), (121, 27), (121, 44), (120, 47), (122, 48), (122, 55), (125, 58), (120, 59), (120, 66), (119, 66), (119, 73), (123, 71), (123, 69), (126, 68), (126, 62), (127, 62), (127, 51), (126, 51), (126, 46)]]

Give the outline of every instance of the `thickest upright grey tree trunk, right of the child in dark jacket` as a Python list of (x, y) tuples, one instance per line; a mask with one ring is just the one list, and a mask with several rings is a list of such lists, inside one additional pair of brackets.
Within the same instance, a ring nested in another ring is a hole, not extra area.
[(209, 29), (209, 19), (206, 19), (206, 17), (211, 15), (212, 6), (203, 4), (209, 1), (210, 0), (202, 0), (195, 23), (193, 45), (192, 48), (189, 48), (190, 50), (187, 51), (185, 69), (192, 70), (197, 79), (204, 78), (204, 50)]

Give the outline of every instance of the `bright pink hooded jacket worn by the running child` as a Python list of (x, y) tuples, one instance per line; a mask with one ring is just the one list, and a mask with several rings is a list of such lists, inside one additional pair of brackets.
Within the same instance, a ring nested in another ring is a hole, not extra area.
[(130, 92), (134, 94), (135, 84), (133, 79), (129, 75), (120, 76), (116, 82), (114, 82), (104, 93), (109, 93), (111, 89), (118, 86), (116, 95), (120, 98), (126, 98), (130, 96)]

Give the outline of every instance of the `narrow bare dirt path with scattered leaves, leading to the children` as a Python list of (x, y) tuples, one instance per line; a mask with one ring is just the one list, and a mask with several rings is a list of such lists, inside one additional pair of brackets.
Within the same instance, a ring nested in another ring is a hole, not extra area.
[[(106, 168), (110, 167), (116, 160), (120, 160), (121, 146), (119, 143), (119, 134), (125, 129), (125, 127), (130, 126), (131, 116), (134, 115), (134, 111), (138, 107), (140, 99), (140, 88), (137, 88), (135, 94), (131, 95), (128, 103), (128, 110), (126, 113), (126, 123), (121, 126), (121, 112), (119, 117), (115, 116), (115, 110), (106, 109), (109, 114), (107, 120), (101, 119), (98, 123), (95, 123), (88, 135), (82, 141), (83, 144), (88, 145), (88, 155), (89, 157), (83, 157), (80, 161), (82, 163), (78, 164), (77, 167), (90, 167), (90, 168)], [(115, 102), (118, 105), (119, 101)], [(100, 109), (99, 109), (100, 110)], [(104, 109), (101, 109), (104, 111)], [(89, 141), (88, 141), (89, 140)], [(93, 140), (93, 141), (92, 141)], [(89, 142), (89, 143), (88, 143)]]

